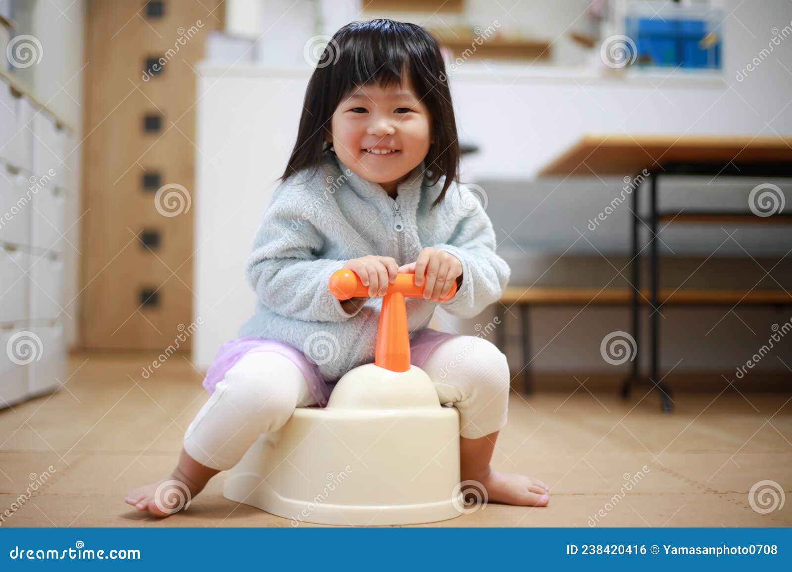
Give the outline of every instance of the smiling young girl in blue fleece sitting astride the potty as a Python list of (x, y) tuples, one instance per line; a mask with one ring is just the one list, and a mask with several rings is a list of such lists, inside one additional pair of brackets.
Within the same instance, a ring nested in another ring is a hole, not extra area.
[[(173, 499), (194, 497), (234, 467), (295, 407), (324, 407), (335, 381), (374, 361), (381, 297), (398, 272), (413, 272), (425, 294), (406, 303), (411, 361), (428, 373), (440, 403), (459, 410), (462, 480), (480, 483), (489, 502), (545, 506), (544, 483), (489, 467), (507, 418), (504, 354), (478, 336), (426, 327), (438, 305), (476, 316), (508, 282), (492, 223), (458, 172), (436, 40), (390, 20), (341, 28), (310, 78), (297, 142), (247, 262), (256, 312), (208, 370), (211, 396), (173, 473), (125, 501), (167, 516)], [(341, 267), (371, 297), (333, 297), (328, 279)], [(454, 282), (455, 296), (440, 302)]]

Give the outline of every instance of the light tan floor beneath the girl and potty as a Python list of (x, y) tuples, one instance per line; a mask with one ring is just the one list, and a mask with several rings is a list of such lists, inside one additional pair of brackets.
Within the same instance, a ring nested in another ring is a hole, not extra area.
[[(0, 513), (46, 479), (3, 526), (291, 526), (223, 498), (222, 473), (165, 520), (124, 504), (132, 487), (171, 471), (208, 397), (185, 356), (143, 379), (153, 357), (72, 356), (59, 392), (0, 411)], [(792, 498), (760, 513), (748, 496), (760, 481), (792, 492), (792, 395), (675, 400), (675, 413), (663, 415), (645, 390), (626, 402), (584, 388), (527, 400), (512, 392), (493, 462), (543, 479), (550, 506), (488, 504), (427, 526), (792, 525)]]

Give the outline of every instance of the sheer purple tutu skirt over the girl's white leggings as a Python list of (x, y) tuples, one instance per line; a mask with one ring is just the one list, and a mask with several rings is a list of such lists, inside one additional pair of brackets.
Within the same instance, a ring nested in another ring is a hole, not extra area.
[[(413, 335), (413, 339), (409, 342), (409, 362), (413, 366), (422, 367), (426, 358), (434, 349), (434, 347), (444, 342), (446, 339), (453, 338), (457, 334), (447, 334), (444, 331), (432, 330), (425, 328), (417, 331)], [(230, 342), (223, 343), (220, 346), (215, 361), (207, 370), (206, 378), (204, 379), (204, 388), (209, 393), (215, 392), (215, 386), (226, 377), (229, 369), (242, 359), (246, 354), (258, 351), (272, 351), (276, 354), (288, 358), (297, 366), (300, 372), (303, 373), (306, 381), (308, 382), (308, 390), (314, 396), (319, 407), (325, 407), (330, 393), (333, 391), (336, 382), (326, 382), (322, 378), (322, 373), (319, 373), (318, 366), (310, 362), (305, 357), (302, 351), (290, 346), (287, 343), (276, 342), (273, 339), (256, 338), (253, 336), (246, 336), (244, 338), (232, 339)]]

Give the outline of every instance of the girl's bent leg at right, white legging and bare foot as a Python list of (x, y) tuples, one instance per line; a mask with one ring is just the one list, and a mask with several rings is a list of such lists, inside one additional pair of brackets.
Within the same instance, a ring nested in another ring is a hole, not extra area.
[[(491, 502), (546, 506), (545, 483), (489, 466), (497, 434), (507, 419), (510, 375), (505, 355), (485, 339), (462, 335), (439, 343), (422, 369), (434, 382), (440, 403), (453, 403), (459, 410), (463, 483), (478, 483)], [(472, 489), (475, 483), (466, 486)]]

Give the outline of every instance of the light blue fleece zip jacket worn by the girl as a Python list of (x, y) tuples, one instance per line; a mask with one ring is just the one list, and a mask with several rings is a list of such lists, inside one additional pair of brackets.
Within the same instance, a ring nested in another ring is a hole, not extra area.
[(407, 299), (411, 337), (428, 327), (438, 305), (467, 318), (501, 297), (510, 271), (495, 253), (493, 225), (481, 203), (453, 183), (430, 211), (444, 178), (428, 186), (424, 171), (424, 163), (413, 169), (394, 200), (327, 151), (317, 176), (299, 172), (282, 182), (246, 263), (257, 301), (238, 335), (288, 343), (318, 365), (325, 381), (336, 381), (374, 361), (382, 298), (365, 299), (348, 313), (329, 293), (330, 275), (348, 259), (366, 255), (392, 256), (401, 266), (428, 246), (458, 258), (463, 281), (448, 301)]

